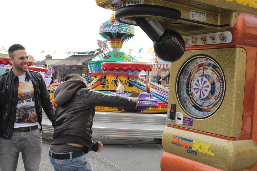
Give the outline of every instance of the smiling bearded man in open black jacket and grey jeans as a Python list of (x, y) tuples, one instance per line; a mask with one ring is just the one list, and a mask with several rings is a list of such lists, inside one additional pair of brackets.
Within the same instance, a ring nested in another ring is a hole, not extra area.
[(54, 107), (42, 75), (28, 70), (20, 44), (9, 50), (12, 69), (0, 75), (0, 169), (16, 170), (22, 153), (25, 170), (39, 170), (42, 153), (42, 107), (54, 127)]

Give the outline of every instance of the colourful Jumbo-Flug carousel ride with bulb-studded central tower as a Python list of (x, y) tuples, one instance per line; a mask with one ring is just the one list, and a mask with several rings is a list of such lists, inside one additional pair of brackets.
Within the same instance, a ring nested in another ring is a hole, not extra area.
[[(130, 40), (134, 36), (134, 27), (116, 21), (114, 14), (112, 14), (108, 21), (100, 25), (99, 34), (106, 41), (109, 41), (109, 45), (113, 48), (113, 51), (109, 51), (106, 54), (100, 53), (89, 61), (89, 71), (94, 78), (93, 80), (88, 80), (90, 88), (103, 93), (113, 94), (121, 84), (124, 86), (124, 92), (130, 96), (132, 92), (146, 92), (151, 87), (151, 96), (158, 100), (158, 106), (150, 105), (149, 108), (142, 108), (142, 110), (133, 112), (166, 113), (169, 89), (155, 83), (151, 83), (151, 85), (147, 84), (145, 79), (138, 79), (141, 70), (152, 70), (152, 64), (137, 62), (132, 55), (126, 55), (124, 52), (120, 52), (124, 41)], [(109, 67), (105, 65), (105, 69), (101, 68), (101, 64), (106, 62)], [(140, 67), (138, 68), (138, 66)], [(149, 68), (149, 66), (151, 66), (151, 68)], [(54, 103), (54, 90), (60, 84), (61, 83), (50, 85), (50, 97), (54, 106), (56, 106)], [(147, 88), (148, 86), (149, 88)], [(102, 106), (97, 106), (95, 109), (96, 111), (105, 112), (126, 112), (125, 110)]]

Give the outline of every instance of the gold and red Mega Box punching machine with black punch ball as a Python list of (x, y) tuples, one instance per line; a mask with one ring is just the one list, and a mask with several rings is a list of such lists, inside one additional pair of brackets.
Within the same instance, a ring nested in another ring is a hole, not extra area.
[(161, 170), (257, 170), (257, 2), (96, 3), (171, 61)]

